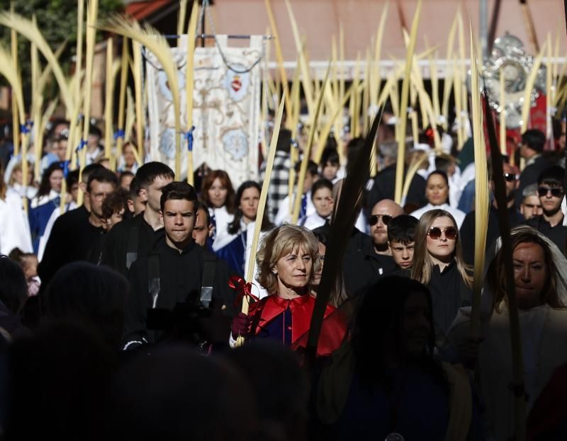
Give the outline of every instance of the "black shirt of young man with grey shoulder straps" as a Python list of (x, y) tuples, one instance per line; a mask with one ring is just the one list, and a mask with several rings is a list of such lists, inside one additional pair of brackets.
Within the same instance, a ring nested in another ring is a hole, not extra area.
[[(150, 256), (139, 258), (128, 272), (130, 294), (126, 302), (125, 345), (133, 342), (157, 342), (163, 333), (147, 329), (147, 311), (152, 308), (150, 294), (150, 259), (159, 256), (159, 294), (156, 309), (174, 311), (178, 305), (196, 305), (201, 295), (203, 260), (205, 256), (216, 260), (213, 253), (191, 242), (179, 251), (167, 245), (165, 239), (158, 241)], [(223, 260), (216, 260), (211, 309), (222, 310), (224, 314), (235, 312), (235, 292), (228, 286), (230, 271)], [(226, 336), (230, 332), (226, 330)]]

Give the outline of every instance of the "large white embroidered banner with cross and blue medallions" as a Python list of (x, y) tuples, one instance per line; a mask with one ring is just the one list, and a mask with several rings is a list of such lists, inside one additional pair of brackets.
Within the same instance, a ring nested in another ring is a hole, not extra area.
[[(186, 134), (186, 37), (172, 47), (181, 94), (181, 130)], [(203, 163), (227, 171), (235, 188), (258, 178), (260, 129), (260, 63), (262, 35), (252, 35), (248, 47), (230, 47), (217, 35), (213, 47), (196, 47), (193, 69), (193, 166)], [(175, 125), (172, 93), (156, 57), (146, 52), (148, 104), (148, 161), (174, 168)], [(189, 127), (190, 128), (190, 127)], [(181, 175), (187, 173), (188, 140), (182, 143)]]

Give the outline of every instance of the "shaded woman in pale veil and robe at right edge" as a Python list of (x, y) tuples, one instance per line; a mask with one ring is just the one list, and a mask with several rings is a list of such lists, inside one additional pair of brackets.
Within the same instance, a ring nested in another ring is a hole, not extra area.
[[(523, 393), (529, 412), (555, 368), (567, 362), (567, 259), (551, 240), (532, 227), (512, 229), (510, 239), (523, 355)], [(480, 311), (481, 339), (469, 337), (470, 308), (459, 311), (449, 333), (461, 361), (478, 362), (491, 432), (488, 435), (495, 440), (509, 440), (515, 435), (515, 397), (510, 390), (513, 371), (510, 290), (504, 261), (499, 239), (485, 277)]]

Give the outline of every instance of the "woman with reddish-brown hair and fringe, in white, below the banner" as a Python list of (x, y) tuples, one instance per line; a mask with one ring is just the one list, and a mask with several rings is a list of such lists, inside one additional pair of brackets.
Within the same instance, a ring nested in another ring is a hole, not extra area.
[(234, 219), (235, 189), (226, 171), (213, 170), (203, 178), (201, 201), (208, 207), (213, 224), (213, 237), (208, 239), (211, 248), (216, 236), (226, 234), (228, 224)]

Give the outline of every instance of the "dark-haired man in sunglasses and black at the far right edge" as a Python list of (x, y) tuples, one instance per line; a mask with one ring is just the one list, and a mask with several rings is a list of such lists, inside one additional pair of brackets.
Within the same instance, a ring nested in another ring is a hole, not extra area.
[(561, 211), (561, 201), (565, 195), (564, 176), (565, 171), (560, 166), (551, 166), (541, 172), (537, 179), (537, 194), (543, 214), (526, 221), (527, 225), (549, 237), (563, 254), (565, 254), (567, 239), (567, 227), (563, 226), (563, 212)]

